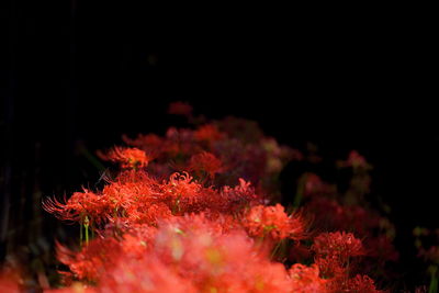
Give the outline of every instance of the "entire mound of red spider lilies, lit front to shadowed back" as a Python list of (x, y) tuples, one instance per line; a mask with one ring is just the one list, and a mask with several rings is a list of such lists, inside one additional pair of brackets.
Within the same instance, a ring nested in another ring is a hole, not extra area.
[[(184, 103), (170, 112), (202, 121)], [(78, 223), (81, 239), (57, 245), (68, 270), (49, 292), (382, 292), (362, 266), (372, 244), (360, 240), (379, 216), (337, 202), (316, 174), (301, 180), (303, 210), (277, 204), (280, 171), (304, 156), (256, 124), (225, 119), (123, 139), (99, 154), (121, 167), (101, 190), (43, 203)], [(369, 168), (358, 154), (344, 165), (358, 177)]]

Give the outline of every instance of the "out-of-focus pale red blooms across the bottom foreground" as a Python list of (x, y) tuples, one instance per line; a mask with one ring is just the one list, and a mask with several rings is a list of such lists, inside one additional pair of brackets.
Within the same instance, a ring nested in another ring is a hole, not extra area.
[(203, 215), (176, 217), (148, 239), (93, 240), (76, 255), (59, 249), (58, 257), (76, 278), (98, 281), (105, 292), (180, 292), (171, 288), (176, 282), (183, 292), (290, 292), (282, 264), (255, 250), (244, 233), (223, 234), (219, 223)]

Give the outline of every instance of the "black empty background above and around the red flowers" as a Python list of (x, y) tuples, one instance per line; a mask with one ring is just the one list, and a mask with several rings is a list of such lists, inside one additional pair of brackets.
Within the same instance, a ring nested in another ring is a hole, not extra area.
[(374, 192), (393, 209), (403, 252), (413, 252), (413, 227), (438, 226), (428, 19), (262, 8), (195, 21), (121, 3), (1, 5), (2, 258), (57, 233), (42, 198), (99, 179), (83, 149), (164, 134), (176, 100), (207, 117), (256, 120), (281, 143), (313, 142), (333, 159), (359, 150), (375, 166)]

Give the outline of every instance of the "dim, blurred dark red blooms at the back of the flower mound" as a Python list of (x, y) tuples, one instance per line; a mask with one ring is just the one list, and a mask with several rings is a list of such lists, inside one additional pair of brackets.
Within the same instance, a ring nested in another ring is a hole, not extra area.
[[(193, 117), (192, 109), (184, 103), (171, 104), (170, 113), (184, 114), (198, 124), (194, 129), (170, 127), (165, 136), (139, 134), (135, 138), (123, 136), (125, 144), (145, 151), (149, 164), (146, 171), (164, 180), (175, 172), (188, 171), (196, 181), (215, 187), (233, 185), (243, 178), (251, 182), (258, 193), (280, 196), (277, 179), (290, 160), (302, 159), (300, 151), (281, 146), (267, 137), (255, 122), (226, 117), (206, 122)], [(142, 161), (128, 154), (131, 148), (100, 154), (106, 160), (126, 162)], [(125, 151), (125, 157), (121, 155)]]

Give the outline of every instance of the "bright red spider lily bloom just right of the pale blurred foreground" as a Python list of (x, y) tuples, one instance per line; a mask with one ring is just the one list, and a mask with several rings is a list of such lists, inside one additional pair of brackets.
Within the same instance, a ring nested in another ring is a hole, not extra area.
[(273, 240), (304, 238), (305, 225), (299, 214), (286, 215), (282, 205), (251, 207), (244, 226), (254, 237), (271, 237)]

